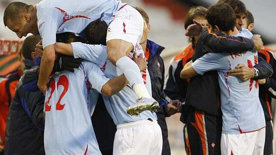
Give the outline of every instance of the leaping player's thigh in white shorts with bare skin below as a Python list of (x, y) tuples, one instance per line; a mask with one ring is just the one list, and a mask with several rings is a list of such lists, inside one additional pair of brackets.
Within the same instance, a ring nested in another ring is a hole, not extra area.
[[(109, 24), (107, 31), (107, 51), (111, 55), (128, 55), (140, 43), (144, 22), (141, 14), (130, 6), (120, 9)], [(114, 54), (115, 53), (115, 54)]]

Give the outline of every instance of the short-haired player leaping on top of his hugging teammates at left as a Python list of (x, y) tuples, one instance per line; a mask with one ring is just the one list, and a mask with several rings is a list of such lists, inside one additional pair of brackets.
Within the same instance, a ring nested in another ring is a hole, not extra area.
[[(19, 38), (28, 33), (41, 36), (44, 54), (38, 86), (45, 92), (55, 59), (56, 33), (72, 32), (85, 37), (82, 35), (84, 28), (98, 18), (109, 25), (106, 40), (109, 60), (122, 70), (138, 97), (133, 110), (137, 113), (155, 111), (159, 106), (157, 101), (152, 99), (139, 76), (139, 67), (127, 57), (135, 49), (135, 44), (140, 43), (143, 18), (126, 3), (117, 0), (97, 0), (93, 3), (90, 0), (43, 0), (37, 5), (13, 2), (5, 9), (3, 19), (4, 25)], [(98, 61), (96, 59), (97, 57), (91, 61), (95, 63)]]

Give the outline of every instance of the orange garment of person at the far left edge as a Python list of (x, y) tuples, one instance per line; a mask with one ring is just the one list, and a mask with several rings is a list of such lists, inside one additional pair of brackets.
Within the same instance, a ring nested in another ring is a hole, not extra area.
[(21, 76), (21, 70), (15, 70), (6, 76), (0, 77), (0, 145), (4, 146), (6, 121), (9, 105), (13, 99), (16, 85)]

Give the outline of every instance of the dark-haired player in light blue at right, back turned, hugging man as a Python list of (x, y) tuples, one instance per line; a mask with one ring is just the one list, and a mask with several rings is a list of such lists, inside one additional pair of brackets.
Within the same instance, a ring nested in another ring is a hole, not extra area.
[[(227, 35), (238, 34), (235, 27), (236, 16), (229, 4), (220, 3), (210, 7), (206, 18), (215, 31)], [(201, 38), (197, 45), (204, 47)], [(186, 79), (198, 74), (203, 75), (210, 70), (218, 71), (223, 119), (222, 154), (263, 154), (265, 120), (257, 97), (257, 80), (243, 82), (235, 76), (229, 76), (228, 73), (238, 64), (253, 67), (253, 64), (257, 63), (257, 52), (207, 53), (193, 64), (187, 64), (181, 72), (181, 76)]]

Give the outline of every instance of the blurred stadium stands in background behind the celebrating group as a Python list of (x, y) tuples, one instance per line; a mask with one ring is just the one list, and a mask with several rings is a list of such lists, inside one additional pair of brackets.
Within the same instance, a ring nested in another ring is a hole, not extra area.
[[(0, 0), (0, 38), (17, 39), (17, 36), (3, 24), (4, 8), (14, 0)], [(39, 3), (40, 0), (18, 0), (28, 4)], [(276, 16), (275, 0), (242, 0), (255, 18), (254, 33), (260, 34), (266, 46), (276, 50)], [(184, 18), (191, 6), (201, 5), (208, 7), (217, 0), (122, 0), (131, 6), (143, 8), (149, 15), (151, 32), (149, 39), (166, 47), (162, 53), (165, 60), (166, 74), (173, 56), (182, 51), (188, 45), (188, 39), (184, 35)], [(0, 51), (0, 75), (4, 75), (19, 66), (16, 54), (1, 55)], [(275, 104), (273, 109), (275, 111)], [(274, 116), (275, 116), (274, 112)], [(172, 155), (185, 155), (183, 142), (183, 126), (179, 121), (180, 114), (167, 118), (169, 141)], [(274, 124), (276, 121), (274, 119)], [(274, 126), (274, 135), (276, 127)], [(274, 138), (275, 142), (275, 138)], [(274, 143), (274, 152), (276, 145)]]

